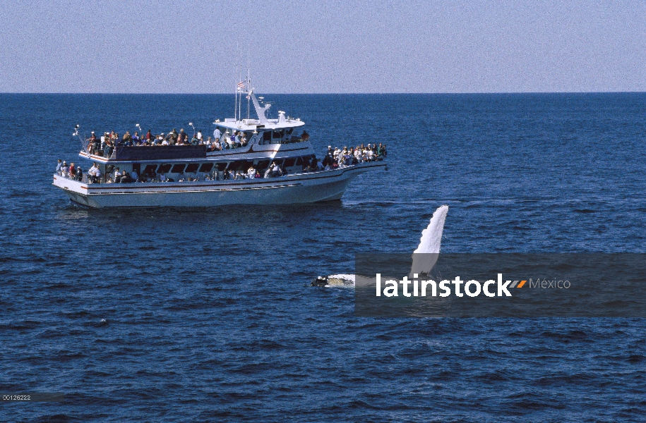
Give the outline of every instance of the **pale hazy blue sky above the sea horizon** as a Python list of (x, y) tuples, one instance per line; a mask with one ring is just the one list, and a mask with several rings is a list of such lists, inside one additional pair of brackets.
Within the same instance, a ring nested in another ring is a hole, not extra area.
[(646, 91), (646, 1), (0, 3), (0, 92), (232, 92), (240, 62), (259, 92)]

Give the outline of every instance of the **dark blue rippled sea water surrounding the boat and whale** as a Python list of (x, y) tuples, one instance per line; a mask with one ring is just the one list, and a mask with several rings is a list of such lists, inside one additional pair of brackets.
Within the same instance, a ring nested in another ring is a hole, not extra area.
[[(90, 130), (205, 132), (218, 95), (0, 94), (1, 421), (643, 421), (643, 319), (364, 319), (356, 252), (646, 252), (646, 94), (267, 95), (327, 145), (385, 142), (340, 202), (88, 210)], [(78, 160), (76, 160), (78, 162)]]

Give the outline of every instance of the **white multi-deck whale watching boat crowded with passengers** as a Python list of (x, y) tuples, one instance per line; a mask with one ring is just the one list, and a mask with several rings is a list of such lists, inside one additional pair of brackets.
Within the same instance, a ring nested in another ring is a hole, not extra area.
[[(174, 130), (165, 137), (149, 131), (140, 140), (92, 133), (85, 140), (76, 125), (79, 156), (91, 167), (78, 171), (59, 161), (54, 185), (72, 202), (94, 208), (298, 204), (340, 200), (355, 176), (385, 169), (381, 146), (359, 152), (328, 147), (318, 159), (306, 131), (298, 134), (303, 121), (284, 111), (268, 118), (270, 104), (244, 82), (237, 86), (236, 117), (215, 121), (213, 140), (193, 135), (189, 142)], [(257, 119), (239, 116), (243, 95)]]

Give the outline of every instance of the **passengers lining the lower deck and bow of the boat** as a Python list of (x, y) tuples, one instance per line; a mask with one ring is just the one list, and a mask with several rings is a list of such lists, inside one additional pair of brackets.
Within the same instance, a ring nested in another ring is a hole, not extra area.
[[(388, 151), (384, 144), (363, 144), (357, 147), (335, 148), (328, 145), (328, 152), (325, 153), (323, 160), (311, 157), (303, 164), (303, 172), (329, 171), (333, 168), (342, 166), (352, 166), (353, 164), (366, 163), (369, 161), (381, 161), (388, 156)], [(56, 165), (56, 174), (74, 180), (83, 180), (83, 170), (74, 163), (67, 165), (67, 161), (59, 159)], [(258, 179), (258, 178), (277, 178), (287, 175), (285, 167), (281, 167), (275, 161), (266, 169), (256, 169), (251, 165), (247, 171), (233, 171), (225, 169), (217, 171), (215, 168), (210, 172), (188, 172), (177, 173), (177, 180), (166, 176), (166, 173), (156, 173), (155, 171), (144, 172), (138, 175), (136, 171), (128, 173), (127, 171), (114, 168), (108, 175), (102, 177), (101, 168), (94, 163), (88, 170), (88, 183), (132, 183), (132, 182), (191, 182), (200, 180), (239, 180), (239, 179)]]

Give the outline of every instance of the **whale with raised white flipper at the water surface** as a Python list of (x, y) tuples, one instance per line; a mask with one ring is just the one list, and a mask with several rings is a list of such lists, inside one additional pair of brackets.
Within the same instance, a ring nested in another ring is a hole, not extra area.
[[(413, 252), (413, 264), (410, 269), (410, 276), (413, 274), (429, 274), (438, 260), (438, 254), (442, 244), (442, 233), (448, 206), (438, 207), (433, 213), (429, 226), (421, 231), (421, 238), (417, 250)], [(422, 255), (423, 254), (423, 255)], [(318, 276), (312, 286), (354, 286), (356, 277), (352, 274), (335, 274), (329, 276)]]

